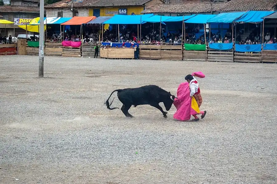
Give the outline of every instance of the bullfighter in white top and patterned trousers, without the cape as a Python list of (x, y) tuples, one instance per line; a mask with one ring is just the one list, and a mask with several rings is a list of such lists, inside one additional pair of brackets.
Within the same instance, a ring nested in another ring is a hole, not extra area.
[[(200, 88), (199, 88), (198, 81), (192, 75), (187, 75), (185, 77), (185, 80), (187, 80), (187, 82), (190, 84), (190, 91), (191, 91), (190, 97), (195, 98), (195, 100), (198, 104), (198, 107), (200, 108), (203, 100), (202, 100), (202, 97), (200, 94)], [(207, 113), (207, 111), (200, 111), (199, 114), (201, 114), (201, 119), (203, 119), (205, 117), (206, 113)], [(192, 115), (192, 116), (195, 118), (192, 121), (199, 121), (199, 118), (196, 115)]]

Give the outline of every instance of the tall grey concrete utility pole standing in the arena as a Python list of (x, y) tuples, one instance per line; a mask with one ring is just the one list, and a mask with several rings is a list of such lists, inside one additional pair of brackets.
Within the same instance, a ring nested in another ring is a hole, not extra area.
[(40, 0), (39, 8), (39, 56), (38, 56), (38, 77), (43, 77), (44, 62), (44, 0)]

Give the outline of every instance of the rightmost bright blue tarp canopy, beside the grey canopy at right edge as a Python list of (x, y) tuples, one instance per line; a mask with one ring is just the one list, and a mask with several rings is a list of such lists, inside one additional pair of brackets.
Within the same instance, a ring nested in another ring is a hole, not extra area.
[(263, 17), (274, 13), (274, 11), (247, 11), (244, 15), (235, 20), (238, 23), (260, 23)]

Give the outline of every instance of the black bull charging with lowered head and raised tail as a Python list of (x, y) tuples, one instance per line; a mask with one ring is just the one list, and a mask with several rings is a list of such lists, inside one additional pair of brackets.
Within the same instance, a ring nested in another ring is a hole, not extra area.
[[(123, 104), (121, 110), (126, 117), (133, 117), (130, 113), (128, 113), (128, 110), (132, 105), (134, 105), (134, 107), (137, 105), (151, 105), (159, 109), (163, 113), (163, 117), (167, 118), (167, 112), (163, 111), (163, 108), (159, 105), (159, 103), (163, 102), (166, 110), (168, 111), (176, 98), (174, 95), (171, 95), (170, 92), (154, 85), (114, 90), (110, 94), (110, 97), (115, 91), (118, 92), (117, 97)], [(109, 103), (110, 97), (106, 101), (107, 108), (110, 110), (119, 109), (110, 108), (110, 105), (113, 103), (113, 101)]]

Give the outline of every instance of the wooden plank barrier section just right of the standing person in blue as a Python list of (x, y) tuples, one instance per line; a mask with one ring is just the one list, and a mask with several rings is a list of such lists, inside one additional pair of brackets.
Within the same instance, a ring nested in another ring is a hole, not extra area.
[(161, 59), (161, 46), (139, 45), (139, 59)]

